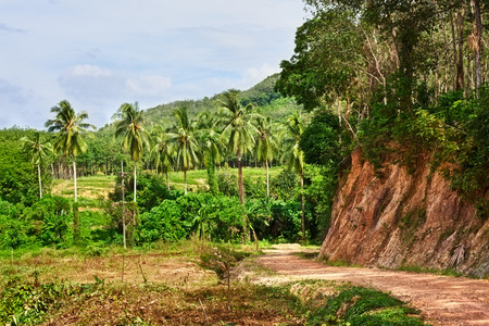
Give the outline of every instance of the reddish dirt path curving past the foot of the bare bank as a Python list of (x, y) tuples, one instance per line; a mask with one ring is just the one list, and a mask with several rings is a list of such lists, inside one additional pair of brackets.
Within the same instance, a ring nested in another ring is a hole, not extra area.
[(291, 279), (348, 280), (390, 291), (422, 310), (434, 325), (489, 325), (489, 280), (378, 268), (333, 267), (296, 255), (298, 244), (277, 246), (258, 259)]

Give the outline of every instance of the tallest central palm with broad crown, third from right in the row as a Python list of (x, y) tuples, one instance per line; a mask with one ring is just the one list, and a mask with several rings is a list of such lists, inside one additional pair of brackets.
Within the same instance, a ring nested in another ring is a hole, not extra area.
[(241, 204), (244, 204), (241, 159), (247, 151), (251, 152), (253, 150), (254, 135), (256, 135), (258, 130), (251, 122), (256, 117), (256, 114), (253, 113), (253, 105), (242, 106), (239, 103), (237, 90), (231, 89), (224, 92), (218, 103), (221, 105), (220, 123), (224, 126), (221, 140), (238, 158), (239, 201)]

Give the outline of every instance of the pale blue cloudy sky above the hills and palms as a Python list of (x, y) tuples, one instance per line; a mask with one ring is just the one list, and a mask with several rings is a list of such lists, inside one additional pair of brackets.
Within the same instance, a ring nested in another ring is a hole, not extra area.
[(293, 54), (302, 0), (0, 0), (0, 128), (43, 129), (67, 100), (102, 127), (248, 89)]

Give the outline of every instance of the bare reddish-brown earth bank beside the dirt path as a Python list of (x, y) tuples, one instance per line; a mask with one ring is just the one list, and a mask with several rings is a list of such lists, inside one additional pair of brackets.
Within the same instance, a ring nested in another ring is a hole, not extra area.
[[(393, 161), (393, 160), (392, 160)], [(429, 166), (414, 174), (386, 164), (383, 177), (362, 154), (342, 179), (319, 258), (383, 267), (419, 266), (489, 275), (489, 220), (477, 215)]]

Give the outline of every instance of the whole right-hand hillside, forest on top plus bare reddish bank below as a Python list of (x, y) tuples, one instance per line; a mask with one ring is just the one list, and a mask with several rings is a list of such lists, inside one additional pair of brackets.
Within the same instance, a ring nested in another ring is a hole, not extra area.
[(343, 176), (322, 254), (487, 274), (487, 1), (305, 2), (314, 16), (277, 89), (314, 110), (310, 128), (335, 116), (340, 148), (355, 152), (351, 165), (322, 150), (331, 138), (319, 126), (301, 141), (308, 163)]

